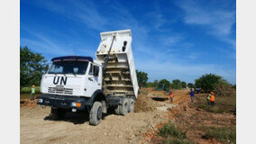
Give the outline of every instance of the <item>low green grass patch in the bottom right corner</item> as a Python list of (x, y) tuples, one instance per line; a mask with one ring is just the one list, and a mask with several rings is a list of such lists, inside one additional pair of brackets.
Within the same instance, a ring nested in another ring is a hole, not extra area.
[(203, 139), (218, 139), (223, 143), (236, 143), (236, 130), (233, 127), (207, 127)]

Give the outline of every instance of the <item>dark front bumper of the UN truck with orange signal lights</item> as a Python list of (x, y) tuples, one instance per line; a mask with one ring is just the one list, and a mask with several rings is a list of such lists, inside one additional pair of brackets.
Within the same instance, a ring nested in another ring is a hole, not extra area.
[[(67, 96), (58, 94), (41, 94), (37, 99), (42, 99), (42, 102), (37, 102), (40, 105), (53, 106), (58, 108), (85, 110), (86, 99), (77, 96)], [(80, 107), (72, 106), (71, 103), (81, 103)]]

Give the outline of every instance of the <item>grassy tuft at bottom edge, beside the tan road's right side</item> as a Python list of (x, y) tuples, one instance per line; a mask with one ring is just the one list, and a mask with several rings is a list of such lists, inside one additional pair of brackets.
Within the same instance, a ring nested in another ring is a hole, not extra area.
[(165, 138), (166, 144), (190, 144), (193, 141), (187, 140), (187, 131), (183, 132), (174, 123), (165, 124), (158, 134), (160, 137)]

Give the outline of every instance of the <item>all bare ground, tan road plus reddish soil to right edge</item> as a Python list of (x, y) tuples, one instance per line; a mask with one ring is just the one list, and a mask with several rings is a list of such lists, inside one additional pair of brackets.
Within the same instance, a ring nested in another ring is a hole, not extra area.
[[(189, 90), (174, 90), (173, 103), (169, 103), (169, 96), (162, 91), (143, 88), (141, 92), (135, 112), (125, 116), (109, 112), (97, 126), (90, 126), (85, 114), (72, 112), (61, 121), (53, 121), (50, 107), (38, 107), (36, 100), (21, 99), (21, 143), (160, 143), (164, 138), (158, 136), (158, 131), (164, 123), (176, 121), (184, 129), (200, 123), (235, 124), (235, 115), (231, 113), (206, 112), (193, 107)], [(203, 130), (187, 131), (187, 137), (198, 143), (222, 143), (202, 138)]]

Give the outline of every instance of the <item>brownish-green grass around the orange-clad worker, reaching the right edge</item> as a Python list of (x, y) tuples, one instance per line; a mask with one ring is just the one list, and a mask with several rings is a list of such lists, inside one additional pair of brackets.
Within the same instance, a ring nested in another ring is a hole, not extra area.
[(207, 112), (234, 113), (236, 111), (236, 96), (215, 96), (215, 107), (208, 105), (204, 95), (197, 95), (196, 98), (195, 106)]

